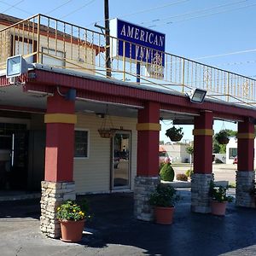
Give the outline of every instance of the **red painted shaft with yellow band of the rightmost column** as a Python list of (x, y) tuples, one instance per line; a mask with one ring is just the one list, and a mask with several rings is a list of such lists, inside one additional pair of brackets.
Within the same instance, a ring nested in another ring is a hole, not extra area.
[(253, 172), (254, 124), (247, 118), (238, 123), (237, 170)]

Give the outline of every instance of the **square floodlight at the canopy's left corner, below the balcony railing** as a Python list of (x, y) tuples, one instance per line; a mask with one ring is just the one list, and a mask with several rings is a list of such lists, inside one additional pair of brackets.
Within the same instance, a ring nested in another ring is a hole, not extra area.
[(26, 73), (27, 69), (26, 61), (21, 55), (9, 57), (6, 63), (6, 77), (8, 79), (19, 77), (22, 73)]

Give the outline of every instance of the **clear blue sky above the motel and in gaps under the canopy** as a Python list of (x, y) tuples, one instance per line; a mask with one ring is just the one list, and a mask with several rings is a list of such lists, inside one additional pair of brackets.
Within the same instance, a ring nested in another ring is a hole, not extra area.
[[(104, 26), (104, 0), (0, 0), (0, 13), (28, 18), (38, 13), (98, 31)], [(109, 17), (166, 34), (166, 52), (256, 79), (255, 0), (109, 0)], [(168, 141), (169, 120), (161, 122), (160, 140)], [(183, 126), (183, 140), (192, 139)], [(214, 121), (213, 129), (237, 125)]]

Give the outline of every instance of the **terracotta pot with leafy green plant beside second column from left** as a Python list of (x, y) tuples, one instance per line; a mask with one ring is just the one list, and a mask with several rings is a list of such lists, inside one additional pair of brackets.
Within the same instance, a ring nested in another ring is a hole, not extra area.
[(179, 201), (179, 195), (171, 185), (160, 183), (149, 197), (149, 204), (154, 207), (154, 217), (157, 224), (172, 224), (174, 205)]

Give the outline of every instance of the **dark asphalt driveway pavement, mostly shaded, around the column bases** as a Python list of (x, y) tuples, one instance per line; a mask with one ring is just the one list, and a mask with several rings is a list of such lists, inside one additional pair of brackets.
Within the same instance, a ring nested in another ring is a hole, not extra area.
[(0, 255), (256, 255), (255, 209), (230, 203), (225, 217), (191, 213), (189, 190), (179, 191), (170, 226), (134, 219), (132, 194), (88, 196), (94, 217), (80, 243), (41, 235), (38, 200), (0, 202)]

